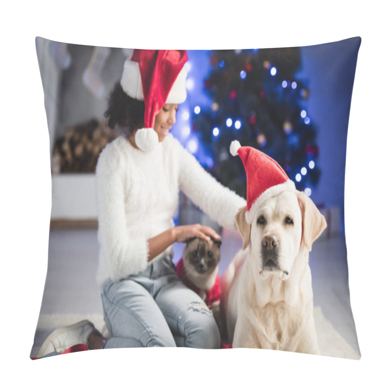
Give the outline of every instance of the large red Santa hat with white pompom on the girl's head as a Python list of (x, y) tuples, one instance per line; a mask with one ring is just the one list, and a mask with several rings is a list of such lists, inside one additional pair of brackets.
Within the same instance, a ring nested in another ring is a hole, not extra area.
[(144, 100), (145, 128), (136, 132), (136, 144), (150, 151), (158, 143), (153, 130), (155, 116), (166, 103), (179, 104), (186, 100), (188, 60), (186, 50), (134, 49), (125, 61), (121, 87), (131, 98)]

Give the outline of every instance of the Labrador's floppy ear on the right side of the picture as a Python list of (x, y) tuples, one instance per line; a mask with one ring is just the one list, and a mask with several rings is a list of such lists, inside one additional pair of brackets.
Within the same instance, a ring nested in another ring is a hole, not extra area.
[(319, 212), (311, 198), (303, 192), (296, 191), (296, 194), (302, 210), (304, 244), (311, 251), (312, 243), (319, 238), (327, 226), (326, 218)]

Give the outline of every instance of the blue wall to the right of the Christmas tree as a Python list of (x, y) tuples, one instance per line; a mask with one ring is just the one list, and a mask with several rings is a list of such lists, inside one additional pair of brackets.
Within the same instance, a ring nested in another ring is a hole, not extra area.
[(307, 112), (317, 127), (318, 165), (322, 171), (312, 199), (326, 206), (344, 206), (348, 117), (359, 38), (302, 47), (302, 71), (308, 79)]

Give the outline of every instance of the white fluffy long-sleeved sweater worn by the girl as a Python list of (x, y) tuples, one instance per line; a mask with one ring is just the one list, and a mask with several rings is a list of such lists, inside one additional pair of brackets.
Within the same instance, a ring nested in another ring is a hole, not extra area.
[[(236, 230), (235, 215), (246, 201), (204, 171), (171, 134), (152, 152), (134, 148), (124, 136), (101, 152), (96, 167), (100, 285), (147, 267), (147, 240), (174, 226), (179, 189), (220, 225)], [(167, 253), (172, 246), (162, 254)]]

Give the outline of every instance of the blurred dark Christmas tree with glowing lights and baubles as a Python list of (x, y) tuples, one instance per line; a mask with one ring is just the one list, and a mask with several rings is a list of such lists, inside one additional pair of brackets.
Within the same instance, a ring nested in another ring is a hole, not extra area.
[(210, 64), (204, 88), (212, 104), (192, 114), (192, 130), (213, 156), (205, 168), (245, 197), (242, 162), (229, 153), (231, 141), (239, 140), (277, 160), (297, 189), (310, 195), (320, 170), (316, 131), (303, 108), (309, 89), (295, 78), (300, 48), (211, 51)]

